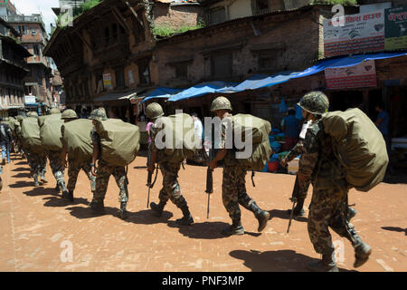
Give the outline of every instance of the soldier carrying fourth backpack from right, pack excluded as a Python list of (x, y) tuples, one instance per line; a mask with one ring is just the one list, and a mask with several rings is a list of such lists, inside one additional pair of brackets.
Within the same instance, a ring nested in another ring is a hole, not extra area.
[[(90, 117), (95, 125), (97, 121), (108, 120), (106, 111), (103, 108), (96, 109), (90, 113)], [(113, 175), (118, 184), (118, 202), (120, 203), (120, 218), (128, 218), (128, 177), (126, 168), (122, 166), (112, 166), (105, 160), (100, 158), (100, 137), (95, 128), (90, 131), (90, 139), (93, 143), (93, 158), (90, 166), (92, 174), (96, 176), (96, 190), (93, 192), (93, 199), (90, 203), (90, 208), (95, 212), (101, 213), (104, 211), (104, 203), (106, 190), (108, 190), (109, 177)], [(98, 162), (98, 168), (95, 170), (95, 163)]]

